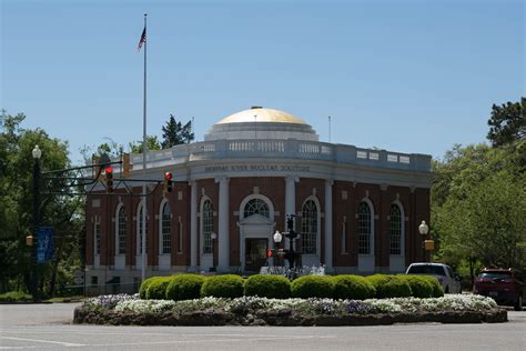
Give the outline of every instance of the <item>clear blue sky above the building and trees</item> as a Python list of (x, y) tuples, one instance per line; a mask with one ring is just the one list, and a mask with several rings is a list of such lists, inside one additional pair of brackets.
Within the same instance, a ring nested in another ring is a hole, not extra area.
[(320, 141), (439, 159), (485, 142), (492, 106), (525, 96), (519, 0), (0, 2), (0, 108), (68, 141), (73, 163), (83, 146), (142, 140), (144, 13), (158, 137), (170, 114), (202, 141), (262, 106)]

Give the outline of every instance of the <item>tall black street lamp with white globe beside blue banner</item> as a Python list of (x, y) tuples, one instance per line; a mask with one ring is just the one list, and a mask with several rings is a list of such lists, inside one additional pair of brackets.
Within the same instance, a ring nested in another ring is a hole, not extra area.
[(33, 151), (33, 247), (31, 250), (32, 257), (32, 280), (31, 280), (31, 292), (33, 294), (33, 300), (39, 301), (39, 261), (38, 261), (38, 250), (39, 250), (39, 204), (40, 204), (40, 158), (42, 157), (42, 150), (39, 146), (34, 146)]

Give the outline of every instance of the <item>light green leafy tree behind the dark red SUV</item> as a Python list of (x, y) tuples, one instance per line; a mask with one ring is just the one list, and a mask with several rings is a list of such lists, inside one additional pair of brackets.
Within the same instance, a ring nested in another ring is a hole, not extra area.
[(434, 174), (436, 259), (472, 268), (475, 262), (525, 268), (526, 174), (513, 156), (484, 144), (455, 146), (434, 162)]

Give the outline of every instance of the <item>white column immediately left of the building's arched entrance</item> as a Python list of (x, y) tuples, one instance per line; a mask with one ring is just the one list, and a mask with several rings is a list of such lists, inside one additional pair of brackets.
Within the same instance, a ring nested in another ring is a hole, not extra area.
[(229, 245), (229, 178), (221, 177), (215, 181), (220, 183), (220, 203), (219, 203), (219, 257), (218, 257), (218, 270), (229, 271), (230, 270), (230, 245)]

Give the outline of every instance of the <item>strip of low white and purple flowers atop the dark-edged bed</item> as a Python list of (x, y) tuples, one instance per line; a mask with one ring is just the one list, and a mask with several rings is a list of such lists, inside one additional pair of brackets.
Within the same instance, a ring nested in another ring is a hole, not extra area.
[(370, 300), (332, 300), (332, 299), (266, 299), (242, 297), (224, 299), (208, 297), (195, 300), (140, 300), (139, 295), (117, 294), (89, 299), (84, 308), (90, 310), (114, 310), (117, 312), (161, 313), (172, 311), (175, 314), (198, 311), (218, 310), (237, 315), (263, 310), (290, 310), (296, 315), (348, 315), (348, 314), (397, 314), (437, 311), (488, 311), (497, 308), (494, 300), (482, 295), (447, 294), (438, 299), (394, 298)]

